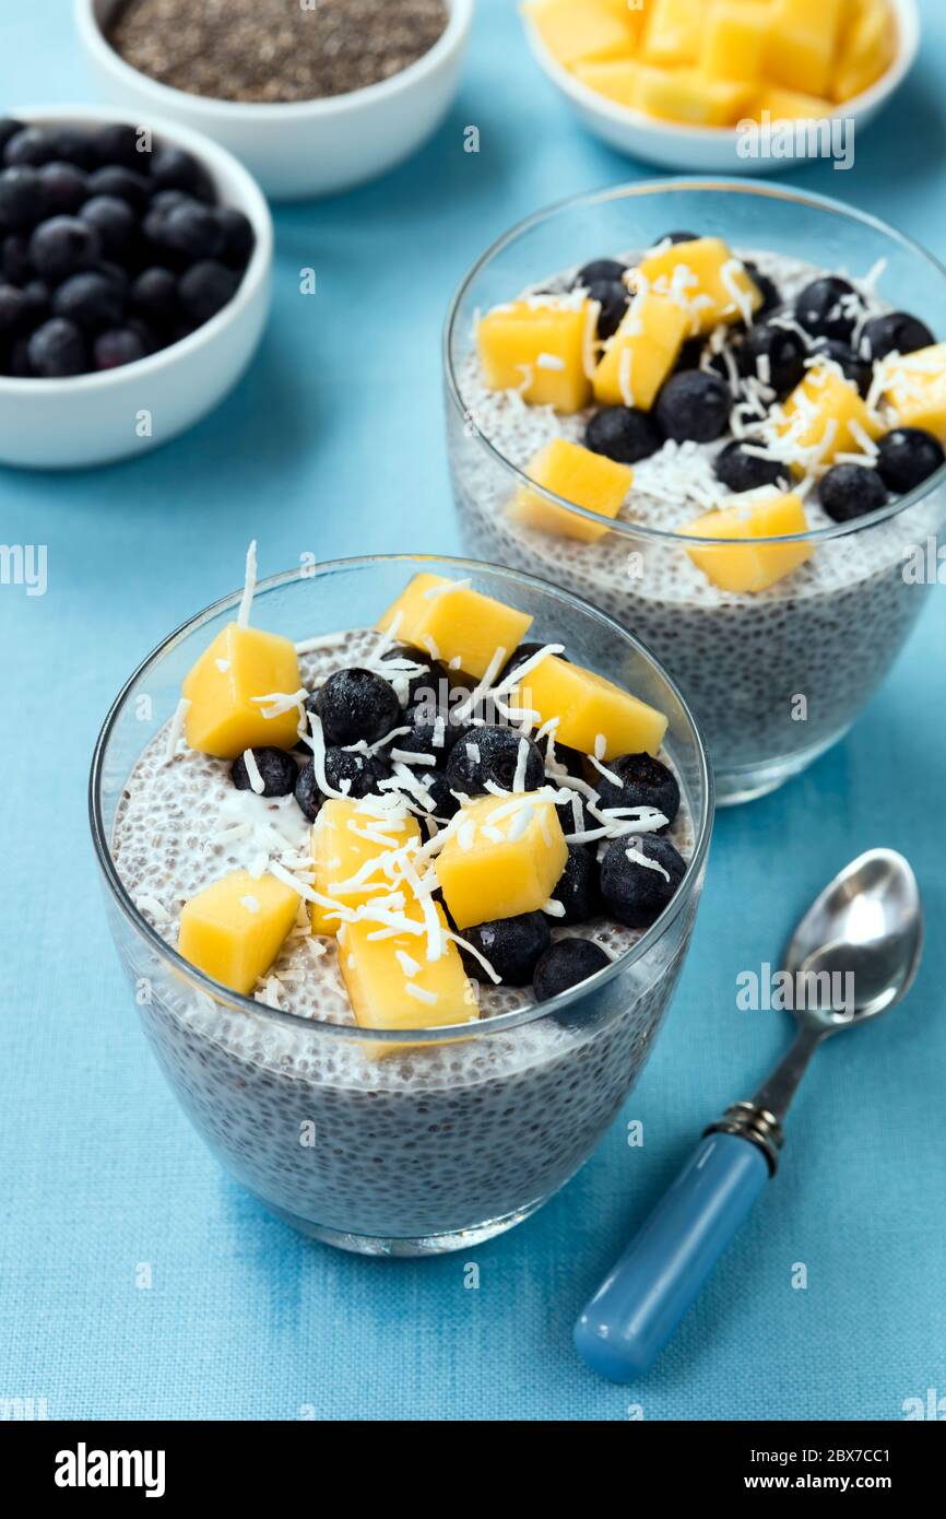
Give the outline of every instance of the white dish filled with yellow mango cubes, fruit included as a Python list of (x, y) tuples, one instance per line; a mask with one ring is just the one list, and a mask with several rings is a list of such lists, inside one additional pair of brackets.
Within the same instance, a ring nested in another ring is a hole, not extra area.
[(703, 172), (849, 161), (920, 39), (916, 0), (525, 0), (522, 14), (585, 126)]

